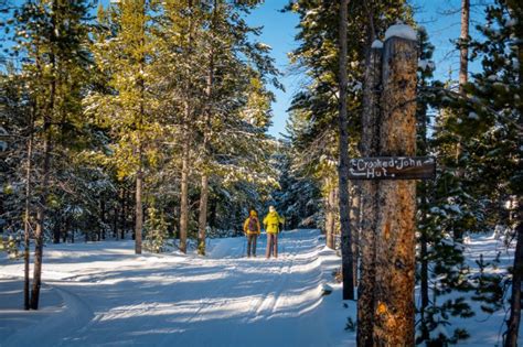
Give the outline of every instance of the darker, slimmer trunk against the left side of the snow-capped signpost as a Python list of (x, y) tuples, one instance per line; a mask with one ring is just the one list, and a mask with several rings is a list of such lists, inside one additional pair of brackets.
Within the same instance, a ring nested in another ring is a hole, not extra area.
[[(362, 116), (362, 154), (376, 156), (380, 150), (380, 88), (382, 48), (372, 48), (365, 71)], [(360, 283), (357, 286), (357, 346), (372, 346), (374, 325), (375, 240), (377, 227), (377, 181), (362, 181), (362, 221), (360, 231)]]

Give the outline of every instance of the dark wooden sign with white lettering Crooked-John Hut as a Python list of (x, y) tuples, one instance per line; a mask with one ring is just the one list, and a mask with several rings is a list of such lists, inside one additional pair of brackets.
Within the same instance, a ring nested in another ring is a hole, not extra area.
[(351, 159), (350, 180), (429, 180), (436, 175), (431, 156), (376, 156)]

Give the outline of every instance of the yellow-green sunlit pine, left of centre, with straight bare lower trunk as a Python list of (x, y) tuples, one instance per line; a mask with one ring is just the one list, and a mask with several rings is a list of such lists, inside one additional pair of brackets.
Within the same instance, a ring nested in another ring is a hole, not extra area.
[(119, 177), (135, 178), (135, 251), (141, 253), (145, 175), (147, 163), (154, 155), (154, 139), (160, 133), (148, 88), (153, 55), (149, 3), (124, 0), (109, 9), (108, 15), (116, 32), (109, 26), (94, 53), (102, 73), (110, 73), (110, 90), (93, 91), (85, 104), (87, 111), (97, 116), (97, 124), (110, 124), (116, 138), (114, 151)]

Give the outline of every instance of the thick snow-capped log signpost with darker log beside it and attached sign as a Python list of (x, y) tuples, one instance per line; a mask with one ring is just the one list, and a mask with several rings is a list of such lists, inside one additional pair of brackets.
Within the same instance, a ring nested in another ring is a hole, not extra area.
[[(365, 75), (362, 155), (349, 178), (361, 181), (363, 221), (357, 341), (415, 345), (416, 183), (436, 161), (416, 154), (416, 32), (397, 23), (372, 45)], [(378, 156), (383, 155), (383, 156)]]

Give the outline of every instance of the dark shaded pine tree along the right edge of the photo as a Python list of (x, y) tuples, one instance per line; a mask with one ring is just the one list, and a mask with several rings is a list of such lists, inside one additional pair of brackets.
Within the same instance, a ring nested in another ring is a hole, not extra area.
[[(474, 172), (478, 173), (473, 187), (487, 197), (488, 208), (494, 212), (489, 216), (489, 224), (506, 226), (516, 239), (512, 270), (511, 316), (504, 339), (505, 346), (515, 346), (521, 316), (520, 284), (523, 268), (521, 257), (523, 174), (519, 164), (523, 153), (521, 137), (523, 8), (519, 2), (498, 0), (487, 8), (485, 14), (487, 24), (478, 28), (484, 40), (471, 43), (472, 58), (481, 58), (483, 71), (473, 75), (474, 84), (466, 86), (465, 90), (471, 94), (472, 98), (468, 105), (468, 117), (461, 119), (462, 127), (459, 131), (470, 139), (469, 161), (474, 164)], [(500, 205), (503, 204), (509, 206), (508, 214), (499, 212)], [(499, 300), (500, 296), (498, 295)]]

